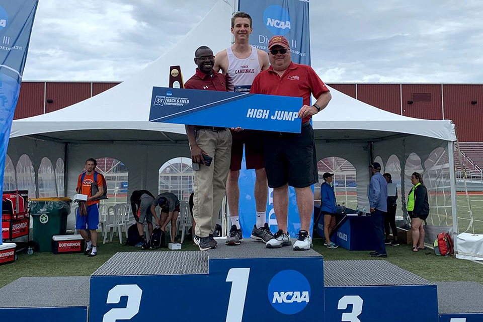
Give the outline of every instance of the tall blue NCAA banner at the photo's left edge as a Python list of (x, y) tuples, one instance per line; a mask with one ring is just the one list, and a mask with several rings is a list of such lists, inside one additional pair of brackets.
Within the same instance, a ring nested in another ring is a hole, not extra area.
[(10, 129), (19, 99), (37, 4), (38, 0), (0, 0), (0, 192), (4, 188)]

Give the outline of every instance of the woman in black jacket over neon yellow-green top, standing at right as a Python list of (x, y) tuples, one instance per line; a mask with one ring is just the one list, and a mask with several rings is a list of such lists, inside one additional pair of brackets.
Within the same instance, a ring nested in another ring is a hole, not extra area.
[(429, 215), (428, 191), (423, 183), (423, 176), (415, 172), (411, 176), (413, 188), (408, 195), (408, 214), (411, 217), (413, 252), (424, 250), (423, 222)]

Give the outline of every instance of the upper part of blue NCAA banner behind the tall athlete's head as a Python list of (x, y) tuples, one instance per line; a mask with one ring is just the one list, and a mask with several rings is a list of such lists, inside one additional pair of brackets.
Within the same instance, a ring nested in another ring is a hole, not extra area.
[(292, 61), (310, 65), (308, 0), (239, 0), (238, 10), (252, 17), (251, 45), (268, 51), (270, 38), (284, 36)]

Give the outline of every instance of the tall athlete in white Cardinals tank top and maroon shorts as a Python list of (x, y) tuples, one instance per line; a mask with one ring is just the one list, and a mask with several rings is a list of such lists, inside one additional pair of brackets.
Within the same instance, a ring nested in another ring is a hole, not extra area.
[[(228, 89), (233, 86), (234, 92), (250, 92), (255, 76), (261, 70), (268, 69), (270, 63), (267, 52), (250, 45), (249, 38), (252, 33), (252, 18), (250, 15), (239, 12), (231, 19), (231, 33), (234, 44), (215, 55), (214, 70), (222, 70), (226, 75)], [(229, 113), (227, 111), (226, 113)], [(231, 161), (228, 180), (226, 181), (226, 195), (231, 215), (231, 229), (226, 238), (227, 245), (240, 245), (243, 234), (238, 221), (238, 207), (240, 191), (238, 178), (245, 145), (245, 160), (247, 169), (255, 169), (255, 204), (257, 210), (257, 223), (253, 227), (251, 237), (267, 243), (273, 235), (267, 224), (267, 195), (268, 184), (264, 163), (263, 134), (260, 131), (241, 131), (232, 129)]]

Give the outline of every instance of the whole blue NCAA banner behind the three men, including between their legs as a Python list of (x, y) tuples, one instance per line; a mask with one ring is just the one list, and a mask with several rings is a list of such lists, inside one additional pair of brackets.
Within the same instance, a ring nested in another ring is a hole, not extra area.
[[(239, 0), (238, 10), (252, 17), (253, 33), (250, 44), (258, 49), (268, 51), (268, 41), (273, 36), (282, 35), (290, 43), (292, 61), (310, 65), (310, 30), (308, 0)], [(241, 165), (239, 189), (239, 220), (244, 237), (250, 238), (253, 225), (256, 223), (255, 207), (255, 171), (247, 170), (245, 154)], [(312, 186), (313, 191), (313, 186)], [(289, 187), (288, 227), (292, 237), (300, 230), (295, 189)], [(269, 189), (267, 201), (267, 222), (273, 232), (278, 230), (277, 219), (273, 209), (273, 189)], [(310, 223), (310, 233), (313, 220)]]

